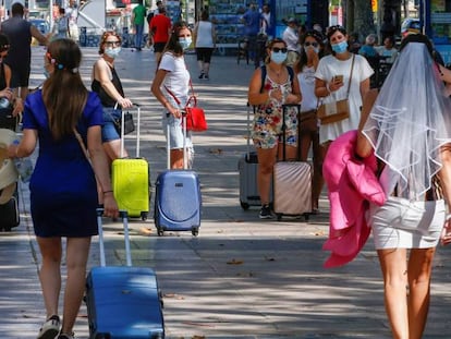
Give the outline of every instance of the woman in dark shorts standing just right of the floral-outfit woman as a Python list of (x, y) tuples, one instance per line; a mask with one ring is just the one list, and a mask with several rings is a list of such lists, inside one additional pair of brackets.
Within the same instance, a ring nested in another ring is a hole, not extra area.
[(300, 116), (300, 160), (306, 161), (310, 146), (313, 148), (314, 172), (312, 178), (312, 211), (319, 213), (318, 202), (324, 179), (321, 174), (321, 150), (319, 146), (319, 129), (316, 110), (318, 98), (315, 95), (315, 72), (322, 53), (322, 35), (317, 31), (308, 31), (301, 38), (301, 56), (294, 64), (301, 86), (302, 105)]

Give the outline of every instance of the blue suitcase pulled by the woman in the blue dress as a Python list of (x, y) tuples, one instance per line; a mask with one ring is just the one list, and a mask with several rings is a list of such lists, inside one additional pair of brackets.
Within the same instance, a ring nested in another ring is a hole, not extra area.
[(122, 213), (127, 266), (106, 266), (101, 209), (98, 211), (100, 267), (86, 280), (90, 339), (162, 339), (164, 322), (155, 271), (132, 267), (129, 221)]

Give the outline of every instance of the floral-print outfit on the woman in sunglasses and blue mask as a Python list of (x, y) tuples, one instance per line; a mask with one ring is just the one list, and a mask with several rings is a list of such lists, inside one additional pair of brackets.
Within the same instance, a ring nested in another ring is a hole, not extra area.
[[(289, 80), (284, 84), (273, 82), (268, 75), (265, 78), (265, 90), (281, 88), (282, 93), (292, 92), (292, 83)], [(273, 148), (281, 141), (282, 134), (282, 101), (271, 98), (268, 102), (256, 106), (252, 138), (257, 148)], [(297, 109), (290, 107), (285, 112), (285, 143), (297, 146)]]

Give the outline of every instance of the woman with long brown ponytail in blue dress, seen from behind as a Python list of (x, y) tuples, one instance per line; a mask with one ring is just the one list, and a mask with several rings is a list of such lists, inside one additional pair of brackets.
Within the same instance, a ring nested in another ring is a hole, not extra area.
[[(118, 217), (109, 166), (101, 145), (102, 108), (78, 73), (82, 53), (71, 39), (52, 41), (45, 57), (49, 78), (25, 101), (23, 138), (9, 147), (9, 156), (29, 156), (39, 142), (33, 172), (31, 210), (42, 256), (39, 279), (47, 320), (38, 338), (73, 338), (73, 326), (85, 291), (90, 238), (97, 234), (97, 185), (102, 190), (105, 216)], [(86, 159), (80, 133), (89, 152)], [(68, 280), (62, 323), (58, 304), (61, 290), (62, 241), (66, 238)]]

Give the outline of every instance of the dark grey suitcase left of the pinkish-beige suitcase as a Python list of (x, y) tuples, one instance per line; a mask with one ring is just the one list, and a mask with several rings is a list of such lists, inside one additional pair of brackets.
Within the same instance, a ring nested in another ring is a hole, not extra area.
[[(255, 110), (255, 107), (254, 107)], [(247, 148), (240, 158), (237, 169), (240, 172), (240, 205), (243, 209), (251, 206), (261, 206), (257, 185), (258, 158), (256, 152), (251, 152), (251, 105), (247, 104)], [(270, 191), (272, 201), (272, 190)]]

